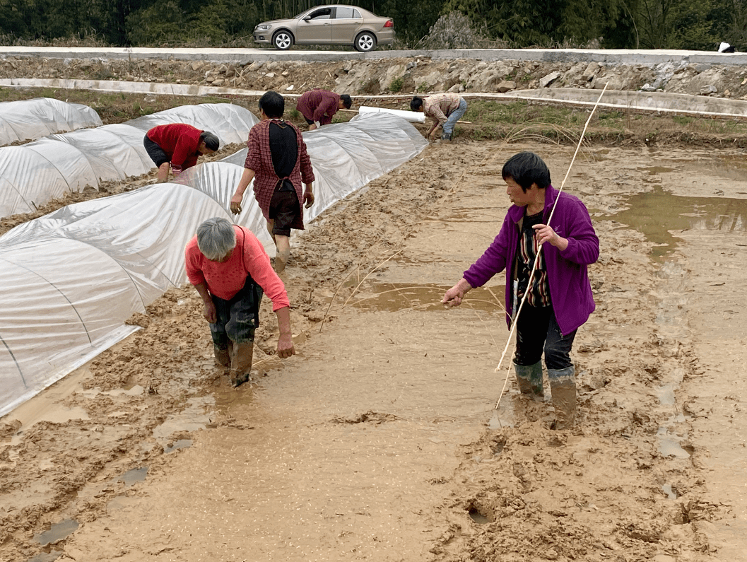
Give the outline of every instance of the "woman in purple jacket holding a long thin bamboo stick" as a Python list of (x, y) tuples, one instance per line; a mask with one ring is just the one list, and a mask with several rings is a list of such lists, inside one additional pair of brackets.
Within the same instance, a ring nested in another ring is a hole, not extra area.
[[(550, 184), (550, 170), (533, 152), (503, 164), (503, 181), (513, 205), (495, 241), (446, 291), (443, 302), (459, 306), (467, 291), (506, 271), (506, 310), (518, 309), (514, 368), (522, 393), (542, 399), (542, 351), (556, 413), (556, 429), (573, 426), (576, 381), (571, 346), (576, 330), (594, 312), (586, 266), (599, 257), (599, 238), (589, 211), (577, 197)], [(557, 205), (555, 204), (557, 201)], [(548, 224), (553, 206), (555, 211)], [(537, 256), (542, 244), (542, 253)], [(530, 271), (538, 260), (532, 285)], [(511, 316), (506, 321), (511, 326)]]

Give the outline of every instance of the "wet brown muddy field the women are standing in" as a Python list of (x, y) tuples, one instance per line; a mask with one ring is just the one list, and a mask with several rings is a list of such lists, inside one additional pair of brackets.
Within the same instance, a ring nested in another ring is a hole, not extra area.
[(251, 385), (174, 288), (1, 419), (0, 559), (747, 560), (744, 154), (582, 149), (565, 188), (601, 239), (597, 311), (577, 427), (553, 431), (495, 372), (502, 276), (438, 304), (498, 233), (520, 149), (560, 186), (573, 147), (435, 143), (294, 235), (298, 355), (267, 354), (264, 302)]

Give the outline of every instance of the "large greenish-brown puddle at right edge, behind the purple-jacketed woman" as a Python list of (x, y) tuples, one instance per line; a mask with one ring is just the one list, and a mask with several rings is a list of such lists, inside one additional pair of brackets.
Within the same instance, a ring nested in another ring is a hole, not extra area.
[(747, 199), (680, 197), (657, 186), (649, 193), (633, 195), (627, 205), (626, 211), (608, 216), (656, 244), (651, 256), (659, 262), (677, 247), (679, 238), (671, 230), (747, 231)]

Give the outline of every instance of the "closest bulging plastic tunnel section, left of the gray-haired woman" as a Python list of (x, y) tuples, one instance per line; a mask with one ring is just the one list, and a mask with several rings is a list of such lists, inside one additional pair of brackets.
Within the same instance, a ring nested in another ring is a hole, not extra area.
[[(152, 185), (77, 203), (0, 238), (0, 415), (134, 331), (125, 320), (185, 280), (202, 220), (193, 188)], [(133, 220), (137, 217), (137, 220)]]

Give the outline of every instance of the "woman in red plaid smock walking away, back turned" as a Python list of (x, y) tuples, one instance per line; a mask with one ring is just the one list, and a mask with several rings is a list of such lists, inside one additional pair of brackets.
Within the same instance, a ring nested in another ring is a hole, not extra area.
[(282, 119), (284, 111), (285, 99), (277, 92), (266, 92), (259, 99), (261, 121), (249, 131), (244, 173), (231, 198), (232, 213), (240, 213), (244, 191), (254, 179), (254, 197), (275, 241), (279, 274), (291, 256), (291, 229), (303, 230), (302, 204), (308, 209), (314, 203), (314, 171), (306, 143), (297, 127)]

